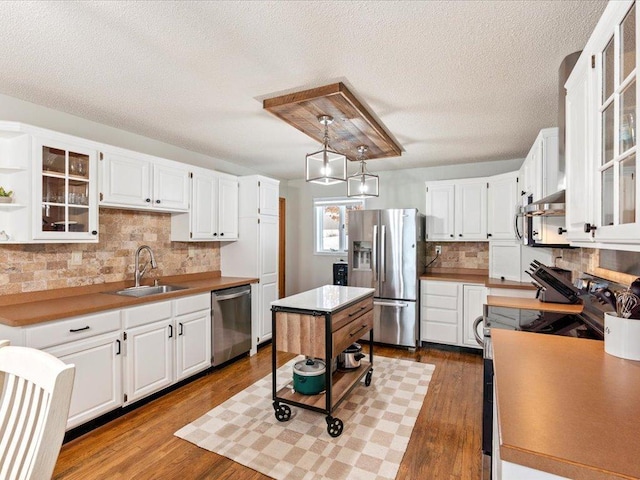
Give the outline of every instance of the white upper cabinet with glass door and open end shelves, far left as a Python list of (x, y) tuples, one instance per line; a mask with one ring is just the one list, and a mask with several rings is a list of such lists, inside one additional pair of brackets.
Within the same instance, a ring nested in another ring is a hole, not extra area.
[(90, 142), (0, 122), (0, 242), (98, 241), (97, 150)]

